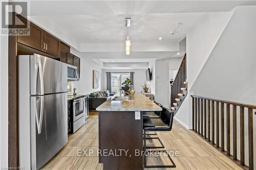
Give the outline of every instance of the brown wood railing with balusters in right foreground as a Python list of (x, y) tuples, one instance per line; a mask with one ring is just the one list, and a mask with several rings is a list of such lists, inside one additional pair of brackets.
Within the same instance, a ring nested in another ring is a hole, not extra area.
[[(191, 98), (193, 131), (243, 168), (253, 169), (253, 109), (256, 109), (256, 106), (197, 95), (191, 95)], [(230, 120), (232, 126), (230, 126)], [(248, 128), (245, 127), (245, 123)], [(245, 134), (246, 136), (248, 134), (246, 140)], [(238, 160), (238, 138), (240, 139), (240, 160)], [(232, 148), (230, 148), (230, 142), (232, 142)], [(245, 150), (245, 144), (248, 144), (248, 152)], [(245, 154), (248, 154), (248, 166), (245, 165)]]

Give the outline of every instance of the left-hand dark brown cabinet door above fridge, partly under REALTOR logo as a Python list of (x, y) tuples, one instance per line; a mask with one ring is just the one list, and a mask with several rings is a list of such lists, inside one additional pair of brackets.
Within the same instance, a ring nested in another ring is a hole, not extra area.
[[(28, 22), (28, 20), (22, 16), (18, 16), (18, 18), (24, 22)], [(30, 26), (30, 36), (17, 36), (17, 41), (42, 51), (44, 48), (44, 30), (34, 25), (32, 22), (29, 22), (28, 25)]]

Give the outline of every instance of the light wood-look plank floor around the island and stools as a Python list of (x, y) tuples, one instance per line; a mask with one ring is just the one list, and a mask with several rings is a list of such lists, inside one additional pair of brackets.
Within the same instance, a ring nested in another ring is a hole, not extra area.
[[(69, 135), (66, 146), (51, 159), (42, 169), (102, 169), (98, 163), (98, 116), (97, 112), (90, 112), (86, 124), (75, 134)], [(177, 121), (170, 132), (158, 132), (158, 137), (165, 146), (165, 150), (179, 151), (179, 156), (172, 159), (176, 168), (148, 168), (148, 169), (242, 169), (229, 158), (213, 148), (194, 132), (185, 129)], [(152, 137), (155, 135), (152, 135)], [(159, 145), (157, 139), (148, 139), (147, 145)], [(77, 156), (77, 150), (94, 150), (91, 156)], [(147, 157), (148, 164), (167, 163), (166, 156)], [(114, 170), (114, 169), (113, 169)]]

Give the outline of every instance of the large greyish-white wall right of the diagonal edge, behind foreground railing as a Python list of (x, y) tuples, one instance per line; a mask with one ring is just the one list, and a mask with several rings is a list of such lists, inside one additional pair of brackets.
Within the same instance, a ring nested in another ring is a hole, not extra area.
[[(256, 103), (256, 6), (241, 6), (234, 10), (225, 30), (220, 36), (214, 49), (211, 51), (203, 68), (197, 76), (193, 86), (190, 86), (189, 94), (206, 96), (208, 98), (221, 99), (227, 101), (240, 102), (255, 105)], [(189, 37), (187, 38), (189, 40)], [(191, 53), (190, 56), (191, 57)], [(193, 59), (193, 58), (192, 58)], [(191, 66), (191, 58), (190, 60)], [(195, 65), (194, 67), (197, 67)], [(191, 70), (191, 69), (189, 69)], [(188, 71), (189, 71), (188, 70)], [(190, 72), (189, 72), (190, 73)], [(195, 72), (194, 72), (195, 73)], [(189, 77), (191, 80), (191, 77)], [(188, 81), (189, 82), (189, 81)], [(190, 83), (190, 82), (189, 82)], [(187, 96), (184, 101), (187, 108), (191, 112), (191, 99)], [(224, 109), (226, 112), (226, 108)], [(184, 118), (191, 115), (182, 107), (177, 113), (177, 119), (182, 123), (191, 124), (191, 120)], [(232, 136), (232, 106), (230, 120), (230, 141)], [(245, 109), (245, 127), (248, 127), (248, 113)], [(254, 115), (254, 114), (253, 114)], [(183, 119), (180, 117), (183, 116)], [(237, 146), (238, 159), (240, 159), (240, 108), (237, 107)], [(256, 117), (253, 116), (255, 123)], [(224, 126), (226, 127), (226, 116), (224, 116)], [(253, 126), (254, 136), (256, 134), (256, 126)], [(224, 129), (224, 133), (226, 133)], [(245, 128), (245, 164), (248, 165), (248, 129)], [(215, 134), (216, 135), (216, 134)], [(224, 136), (226, 136), (224, 134)], [(226, 140), (226, 139), (225, 139)], [(254, 138), (254, 143), (256, 139)], [(232, 142), (230, 143), (231, 155)], [(225, 143), (226, 150), (226, 143)], [(256, 154), (256, 150), (254, 150)], [(254, 157), (254, 164), (256, 158)], [(255, 167), (254, 167), (255, 168)]]

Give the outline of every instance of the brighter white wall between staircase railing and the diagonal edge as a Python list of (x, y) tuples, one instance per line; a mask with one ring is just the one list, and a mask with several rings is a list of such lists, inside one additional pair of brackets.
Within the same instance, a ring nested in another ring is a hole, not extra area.
[(186, 34), (188, 95), (175, 118), (188, 129), (191, 128), (190, 94), (203, 65), (214, 49), (233, 12), (207, 13), (198, 24)]

